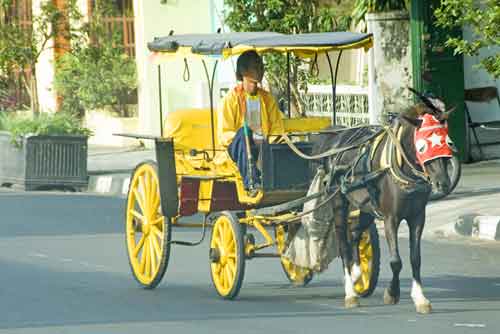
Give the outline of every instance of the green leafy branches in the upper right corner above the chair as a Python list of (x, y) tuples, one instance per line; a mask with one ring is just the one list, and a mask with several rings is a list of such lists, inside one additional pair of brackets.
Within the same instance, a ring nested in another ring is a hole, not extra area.
[[(442, 0), (441, 6), (434, 11), (436, 24), (443, 28), (462, 28), (469, 26), (473, 38), (448, 38), (446, 46), (453, 48), (455, 54), (475, 56), (480, 49), (500, 45), (500, 3), (498, 0)], [(495, 78), (500, 77), (500, 53), (481, 60), (483, 67)]]

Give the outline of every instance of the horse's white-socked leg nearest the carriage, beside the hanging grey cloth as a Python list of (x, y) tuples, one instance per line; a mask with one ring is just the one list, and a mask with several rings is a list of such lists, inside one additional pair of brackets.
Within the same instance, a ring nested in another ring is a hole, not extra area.
[(342, 265), (344, 268), (344, 289), (345, 300), (344, 305), (346, 308), (353, 308), (359, 306), (359, 296), (354, 290), (352, 282), (351, 267), (352, 248), (349, 242), (349, 226), (347, 222), (347, 204), (346, 200), (338, 196), (335, 200), (334, 212), (335, 230), (337, 235), (337, 242), (339, 246), (340, 257), (342, 258)]

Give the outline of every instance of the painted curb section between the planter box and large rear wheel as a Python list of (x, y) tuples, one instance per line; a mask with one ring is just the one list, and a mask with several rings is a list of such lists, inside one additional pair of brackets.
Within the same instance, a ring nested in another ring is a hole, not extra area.
[(126, 196), (130, 183), (130, 171), (89, 173), (88, 193)]

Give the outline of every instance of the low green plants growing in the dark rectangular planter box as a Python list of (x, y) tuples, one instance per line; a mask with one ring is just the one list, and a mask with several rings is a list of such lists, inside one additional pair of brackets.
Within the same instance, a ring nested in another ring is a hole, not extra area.
[(13, 142), (19, 142), (26, 135), (84, 135), (92, 132), (82, 126), (81, 120), (74, 114), (57, 112), (41, 113), (33, 116), (26, 113), (0, 114), (0, 130), (8, 131)]

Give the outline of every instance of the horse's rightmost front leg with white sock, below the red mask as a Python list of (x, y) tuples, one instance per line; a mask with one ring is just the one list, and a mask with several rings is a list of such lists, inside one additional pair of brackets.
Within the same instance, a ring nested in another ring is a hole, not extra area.
[(420, 240), (425, 224), (425, 210), (415, 219), (408, 222), (410, 230), (410, 260), (413, 273), (413, 283), (411, 286), (411, 298), (417, 309), (417, 313), (430, 313), (431, 303), (424, 296), (422, 290), (422, 280), (420, 278)]

